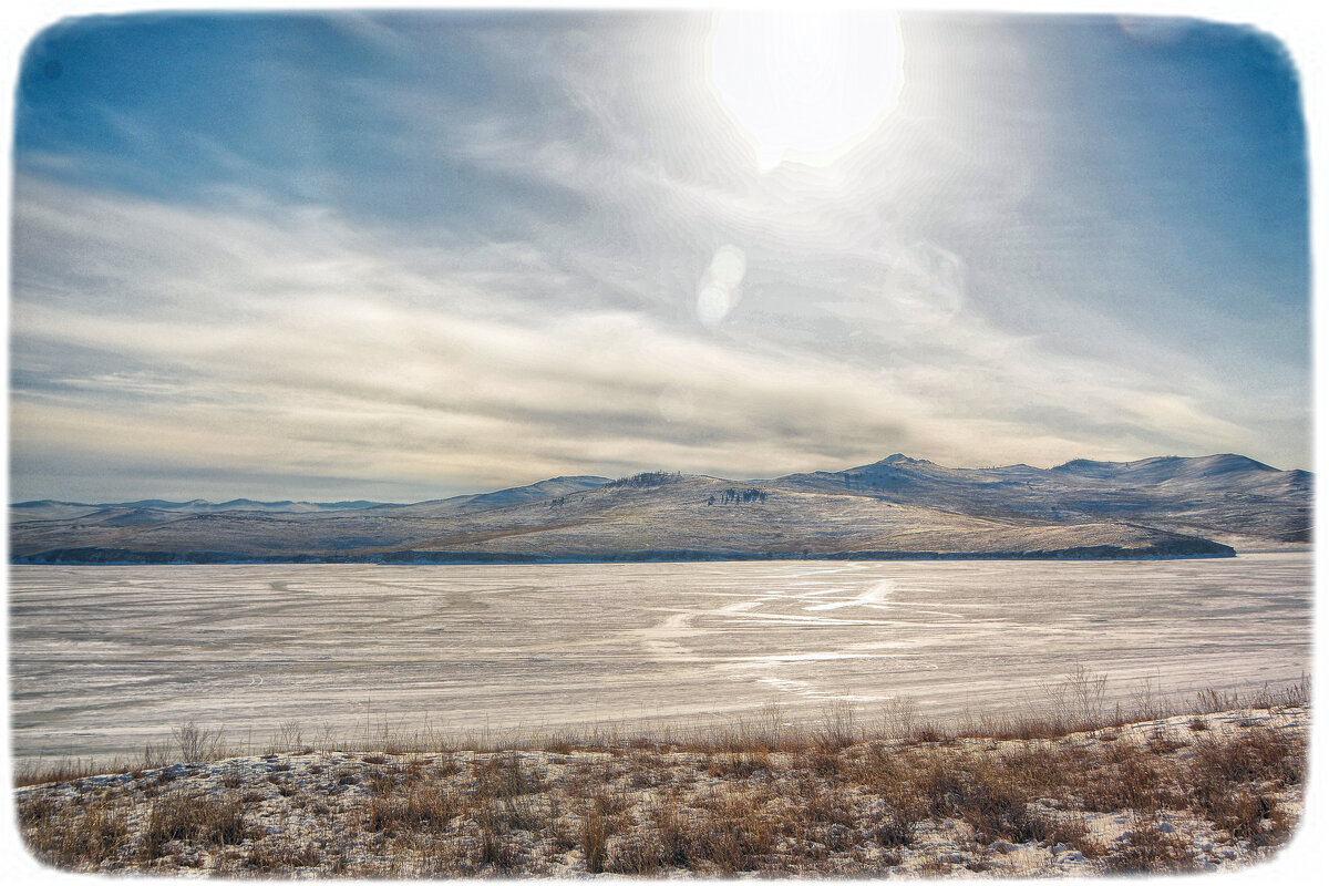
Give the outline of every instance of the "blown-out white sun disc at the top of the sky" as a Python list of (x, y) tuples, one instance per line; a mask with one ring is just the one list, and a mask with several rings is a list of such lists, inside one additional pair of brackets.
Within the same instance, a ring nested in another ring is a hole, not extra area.
[(900, 31), (893, 13), (730, 9), (711, 25), (710, 85), (768, 170), (835, 162), (894, 108)]

